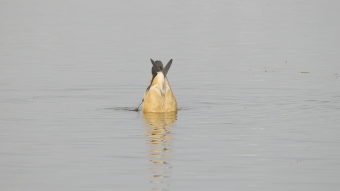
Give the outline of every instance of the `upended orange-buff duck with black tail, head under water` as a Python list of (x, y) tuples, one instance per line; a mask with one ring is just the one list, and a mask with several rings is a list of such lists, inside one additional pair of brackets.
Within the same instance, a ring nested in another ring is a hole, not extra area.
[(168, 71), (170, 69), (172, 59), (163, 68), (161, 61), (154, 61), (151, 69), (151, 80), (149, 87), (144, 93), (144, 99), (135, 108), (138, 110), (139, 106), (143, 103), (143, 112), (170, 112), (177, 111), (177, 102), (172, 93), (170, 83), (167, 78)]

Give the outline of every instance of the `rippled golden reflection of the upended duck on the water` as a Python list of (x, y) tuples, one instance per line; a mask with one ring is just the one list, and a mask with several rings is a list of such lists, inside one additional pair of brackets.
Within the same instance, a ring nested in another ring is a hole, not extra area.
[(152, 191), (164, 191), (164, 186), (169, 186), (170, 183), (166, 178), (172, 173), (172, 166), (169, 163), (171, 157), (173, 140), (171, 127), (175, 126), (177, 120), (177, 111), (172, 112), (144, 112), (145, 127), (147, 131), (146, 137), (150, 137), (148, 145), (150, 151), (148, 156), (151, 162), (152, 180), (150, 183), (155, 184), (158, 188), (153, 188)]

